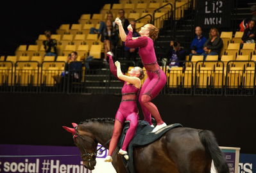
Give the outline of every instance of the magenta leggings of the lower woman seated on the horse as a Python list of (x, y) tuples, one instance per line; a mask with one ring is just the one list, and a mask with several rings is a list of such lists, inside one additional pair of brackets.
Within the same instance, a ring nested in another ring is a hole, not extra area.
[(112, 156), (113, 151), (117, 146), (117, 142), (123, 130), (124, 121), (126, 120), (130, 121), (130, 127), (128, 128), (127, 133), (124, 137), (124, 143), (122, 146), (122, 149), (124, 151), (126, 151), (130, 141), (133, 138), (133, 135), (136, 132), (139, 116), (135, 112), (122, 114), (120, 110), (117, 110), (117, 113), (115, 114), (115, 124), (114, 124), (113, 135), (109, 145), (109, 151), (108, 151), (109, 156)]

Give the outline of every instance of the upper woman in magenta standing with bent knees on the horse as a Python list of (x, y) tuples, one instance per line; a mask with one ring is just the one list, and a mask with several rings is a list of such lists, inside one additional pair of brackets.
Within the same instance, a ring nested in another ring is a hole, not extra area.
[(141, 27), (141, 31), (139, 31), (141, 36), (133, 38), (132, 26), (128, 26), (129, 33), (126, 36), (121, 20), (117, 18), (115, 19), (115, 23), (119, 26), (119, 34), (121, 40), (125, 41), (126, 47), (139, 47), (139, 55), (141, 56), (141, 61), (146, 68), (148, 75), (148, 78), (145, 80), (141, 88), (141, 92), (139, 94), (139, 102), (144, 114), (144, 120), (148, 121), (148, 123), (152, 125), (152, 115), (157, 121), (157, 126), (152, 131), (157, 132), (157, 130), (166, 126), (166, 123), (162, 121), (157, 107), (151, 102), (151, 100), (155, 98), (166, 85), (166, 74), (164, 71), (162, 71), (157, 63), (153, 42), (153, 40), (157, 38), (159, 30), (157, 27), (151, 24), (146, 24), (145, 26)]

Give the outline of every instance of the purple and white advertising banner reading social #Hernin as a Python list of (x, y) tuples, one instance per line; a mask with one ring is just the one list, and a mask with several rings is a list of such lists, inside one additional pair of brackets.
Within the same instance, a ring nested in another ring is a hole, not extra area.
[[(98, 148), (101, 147), (98, 145)], [(101, 151), (104, 148), (101, 149)], [(0, 144), (0, 172), (98, 173), (115, 172), (104, 162), (107, 150), (98, 153), (94, 170), (85, 169), (78, 147)]]

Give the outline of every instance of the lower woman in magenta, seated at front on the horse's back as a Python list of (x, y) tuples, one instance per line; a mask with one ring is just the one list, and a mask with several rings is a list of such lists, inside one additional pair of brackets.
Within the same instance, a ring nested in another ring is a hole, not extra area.
[(117, 142), (123, 130), (124, 121), (130, 121), (130, 127), (124, 137), (124, 143), (119, 154), (122, 154), (126, 160), (129, 159), (128, 153), (126, 151), (128, 144), (135, 134), (137, 125), (139, 123), (138, 108), (137, 108), (137, 97), (139, 95), (139, 89), (141, 88), (141, 79), (144, 77), (144, 71), (140, 67), (132, 68), (128, 72), (129, 76), (126, 76), (121, 71), (121, 66), (118, 61), (115, 64), (112, 59), (112, 53), (108, 52), (109, 66), (112, 74), (117, 77), (117, 79), (124, 82), (122, 88), (122, 100), (115, 114), (114, 130), (112, 134), (112, 139), (110, 140), (110, 146), (108, 151), (108, 156), (105, 158), (105, 162), (112, 162), (112, 154), (117, 146)]

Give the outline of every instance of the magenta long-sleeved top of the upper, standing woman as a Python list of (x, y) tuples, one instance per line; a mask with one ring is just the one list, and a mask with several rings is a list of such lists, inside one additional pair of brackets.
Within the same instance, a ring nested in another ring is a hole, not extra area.
[(139, 55), (143, 64), (151, 64), (157, 61), (155, 56), (154, 42), (148, 36), (140, 36), (132, 40), (132, 32), (129, 31), (125, 40), (126, 47), (137, 48), (139, 47)]

